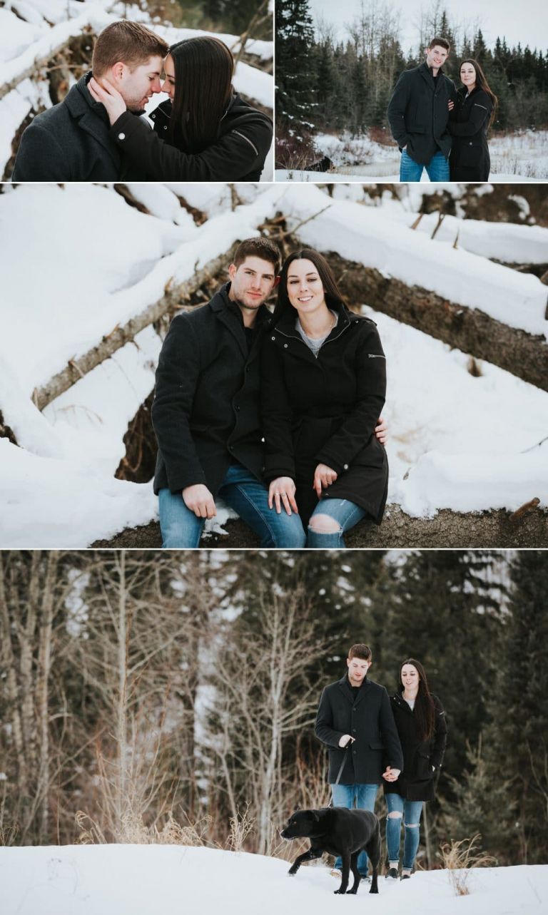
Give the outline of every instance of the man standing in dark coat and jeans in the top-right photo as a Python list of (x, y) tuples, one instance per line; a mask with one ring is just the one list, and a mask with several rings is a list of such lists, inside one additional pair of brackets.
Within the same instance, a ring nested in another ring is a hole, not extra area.
[(446, 38), (433, 38), (420, 67), (405, 70), (396, 83), (388, 120), (402, 153), (400, 181), (420, 181), (424, 167), (431, 181), (449, 180), (446, 127), (457, 99), (455, 83), (442, 70), (449, 50)]

